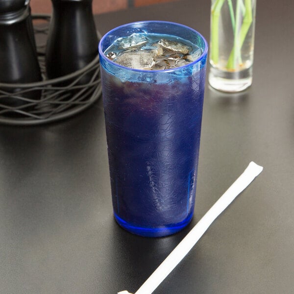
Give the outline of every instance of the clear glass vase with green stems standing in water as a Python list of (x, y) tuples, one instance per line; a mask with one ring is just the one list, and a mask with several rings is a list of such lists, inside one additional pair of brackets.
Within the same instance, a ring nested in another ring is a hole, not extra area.
[(212, 0), (210, 85), (239, 92), (252, 83), (256, 0)]

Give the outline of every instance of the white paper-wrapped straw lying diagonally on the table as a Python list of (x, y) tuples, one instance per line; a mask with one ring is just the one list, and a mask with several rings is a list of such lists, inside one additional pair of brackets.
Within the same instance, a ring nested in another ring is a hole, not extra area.
[[(170, 255), (150, 275), (135, 294), (151, 294), (178, 263), (187, 255), (197, 241), (202, 237), (212, 222), (227, 208), (227, 206), (258, 176), (263, 167), (251, 161), (245, 171), (220, 197), (209, 211), (198, 221), (187, 236), (172, 250)], [(131, 294), (127, 291), (118, 294)]]

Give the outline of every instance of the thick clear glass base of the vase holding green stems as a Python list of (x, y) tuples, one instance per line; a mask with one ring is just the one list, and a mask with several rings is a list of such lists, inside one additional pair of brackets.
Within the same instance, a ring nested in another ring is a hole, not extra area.
[(240, 72), (226, 72), (211, 68), (208, 76), (209, 84), (222, 92), (236, 93), (247, 89), (252, 84), (252, 68)]

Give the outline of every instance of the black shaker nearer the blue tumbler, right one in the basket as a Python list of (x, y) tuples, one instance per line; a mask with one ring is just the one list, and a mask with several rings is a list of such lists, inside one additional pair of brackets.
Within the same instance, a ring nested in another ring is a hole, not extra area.
[[(60, 77), (84, 68), (98, 55), (92, 0), (51, 0), (53, 12), (46, 47), (47, 75)], [(80, 83), (86, 83), (85, 75)]]

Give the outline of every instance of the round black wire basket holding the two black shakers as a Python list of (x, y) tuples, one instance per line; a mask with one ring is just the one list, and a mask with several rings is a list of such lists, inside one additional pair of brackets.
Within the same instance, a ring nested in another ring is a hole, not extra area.
[[(32, 16), (32, 19), (34, 24), (38, 22), (34, 25), (34, 33), (43, 81), (24, 84), (0, 83), (0, 100), (1, 98), (20, 100), (20, 106), (0, 104), (0, 123), (33, 125), (58, 121), (81, 112), (101, 96), (98, 54), (81, 70), (55, 79), (47, 79), (44, 52), (50, 15), (36, 14)], [(98, 37), (100, 38), (99, 33)], [(83, 83), (82, 78), (85, 75), (90, 75), (91, 79)], [(41, 92), (41, 98), (35, 100), (24, 97), (23, 94), (32, 91)]]

